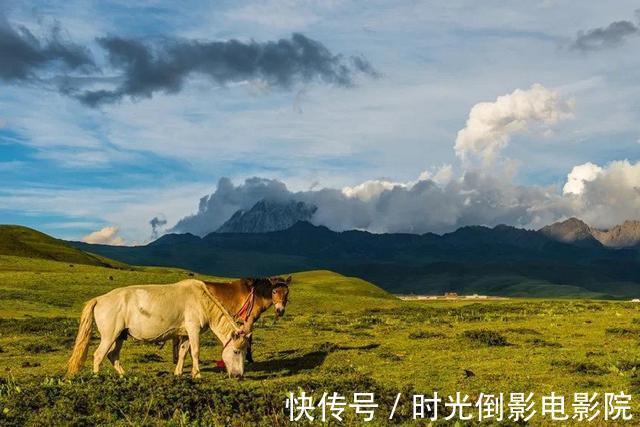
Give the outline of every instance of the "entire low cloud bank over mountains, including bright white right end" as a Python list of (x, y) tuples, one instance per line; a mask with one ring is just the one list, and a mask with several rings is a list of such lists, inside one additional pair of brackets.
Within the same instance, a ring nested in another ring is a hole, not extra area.
[[(447, 175), (436, 182), (435, 177)], [(539, 228), (577, 216), (596, 227), (640, 219), (640, 161), (574, 167), (562, 188), (517, 185), (510, 175), (450, 167), (424, 173), (416, 181), (370, 180), (342, 189), (293, 192), (278, 180), (250, 178), (234, 185), (223, 178), (200, 201), (198, 212), (172, 231), (205, 235), (235, 211), (259, 200), (296, 200), (317, 207), (312, 222), (336, 231), (443, 233), (466, 225), (507, 224)]]

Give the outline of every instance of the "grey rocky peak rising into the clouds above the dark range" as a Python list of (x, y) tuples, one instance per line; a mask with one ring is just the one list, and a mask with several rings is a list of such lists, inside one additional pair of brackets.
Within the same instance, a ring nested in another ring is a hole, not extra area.
[(261, 200), (248, 211), (237, 211), (216, 233), (268, 233), (309, 221), (317, 208), (304, 202)]

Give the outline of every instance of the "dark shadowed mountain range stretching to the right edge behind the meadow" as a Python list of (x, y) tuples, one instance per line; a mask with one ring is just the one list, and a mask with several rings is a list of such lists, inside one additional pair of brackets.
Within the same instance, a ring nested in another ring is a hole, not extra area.
[[(258, 224), (274, 228), (275, 222), (255, 216), (266, 207), (236, 214), (220, 230), (225, 232), (203, 237), (167, 234), (137, 247), (71, 244), (129, 264), (223, 276), (328, 269), (394, 293), (640, 296), (637, 221), (596, 230), (572, 218), (538, 231), (470, 226), (443, 235), (335, 232), (306, 221), (277, 231), (232, 231), (260, 230)], [(309, 209), (301, 206), (293, 212)]]

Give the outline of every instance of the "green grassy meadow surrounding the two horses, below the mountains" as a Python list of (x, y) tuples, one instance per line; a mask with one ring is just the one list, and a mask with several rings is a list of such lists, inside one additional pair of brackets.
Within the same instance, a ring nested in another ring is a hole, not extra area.
[[(210, 334), (201, 381), (169, 374), (170, 346), (131, 341), (122, 352), (125, 378), (107, 362), (97, 377), (87, 364), (79, 378), (62, 379), (85, 300), (192, 274), (0, 256), (0, 424), (280, 425), (287, 392), (299, 389), (376, 392), (376, 419), (386, 424), (398, 392), (409, 399), (461, 391), (475, 399), (480, 392), (623, 390), (635, 399), (639, 391), (640, 305), (400, 301), (327, 271), (294, 274), (285, 317), (268, 313), (256, 326), (256, 362), (244, 381), (214, 368), (220, 350)], [(401, 401), (397, 422), (410, 421), (408, 404)], [(640, 409), (635, 400), (633, 409)], [(349, 414), (347, 423), (358, 423)]]

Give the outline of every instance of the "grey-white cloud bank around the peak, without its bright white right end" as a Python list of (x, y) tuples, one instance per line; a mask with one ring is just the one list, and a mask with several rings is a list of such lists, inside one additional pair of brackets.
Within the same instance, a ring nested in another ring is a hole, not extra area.
[(213, 194), (201, 199), (198, 212), (179, 221), (173, 231), (204, 235), (236, 210), (249, 209), (262, 199), (314, 205), (318, 209), (312, 222), (339, 231), (425, 233), (472, 224), (537, 226), (570, 213), (561, 197), (548, 188), (516, 186), (482, 171), (448, 178), (442, 183), (431, 178), (406, 183), (373, 180), (342, 189), (300, 192), (289, 191), (277, 180), (250, 178), (234, 185), (222, 179)]

